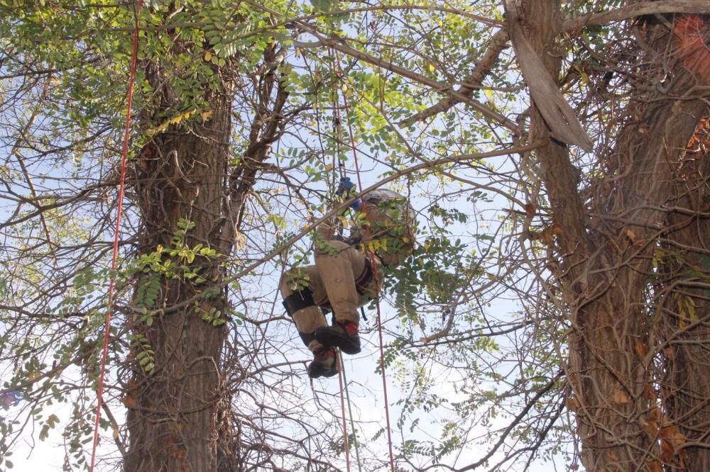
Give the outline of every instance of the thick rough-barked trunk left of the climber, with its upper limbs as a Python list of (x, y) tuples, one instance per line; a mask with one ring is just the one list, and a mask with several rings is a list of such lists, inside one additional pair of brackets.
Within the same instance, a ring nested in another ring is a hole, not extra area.
[[(240, 159), (234, 159), (230, 147), (236, 67), (229, 61), (214, 69), (222, 78), (219, 91), (204, 91), (209, 108), (203, 119), (171, 124), (165, 130), (158, 127), (160, 133), (135, 159), (135, 198), (144, 225), (139, 254), (155, 254), (159, 246), (175, 249), (176, 231), (190, 222), (187, 230), (183, 228), (182, 247), (201, 245), (217, 255), (187, 260), (163, 253), (158, 258), (163, 269), (149, 268), (136, 276), (134, 302), (139, 310), (141, 286), (157, 280), (159, 290), (148, 306), (143, 303), (142, 316), (128, 320), (136, 339), (124, 396), (129, 409), (127, 472), (232, 471), (241, 465), (231, 397), (220, 378), (229, 325), (219, 324), (228, 321), (229, 309), (224, 258), (232, 251), (247, 198), (271, 144), (283, 134), (285, 121), (301, 111), (297, 108), (288, 117), (283, 112), (288, 92), (276, 67), (284, 56), (275, 47), (264, 52), (261, 74), (253, 78), (254, 115)], [(179, 99), (159, 62), (146, 64), (146, 77), (154, 90), (153, 115), (165, 120), (166, 114), (179, 113)], [(156, 129), (154, 116), (143, 118)], [(172, 265), (166, 270), (167, 262)], [(145, 369), (141, 352), (147, 349), (154, 352), (149, 363), (153, 369)]]

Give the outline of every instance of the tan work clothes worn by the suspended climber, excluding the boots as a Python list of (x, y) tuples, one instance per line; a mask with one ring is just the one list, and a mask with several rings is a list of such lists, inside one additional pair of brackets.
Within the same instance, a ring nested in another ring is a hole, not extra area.
[[(364, 196), (366, 219), (369, 233), (364, 223), (356, 227), (362, 244), (348, 245), (332, 239), (334, 225), (323, 224), (317, 232), (327, 240), (327, 247), (316, 249), (315, 265), (298, 267), (283, 274), (280, 291), (283, 298), (310, 289), (315, 305), (304, 307), (292, 314), (303, 342), (311, 352), (322, 349), (320, 342), (312, 337), (318, 327), (327, 326), (319, 307), (332, 310), (336, 320), (359, 323), (357, 308), (376, 296), (382, 288), (384, 268), (399, 265), (414, 247), (415, 213), (405, 197), (391, 190), (376, 190)], [(363, 279), (368, 274), (366, 259), (369, 255), (361, 249), (375, 249), (377, 277), (364, 286)], [(360, 291), (358, 291), (360, 288)], [(360, 293), (359, 293), (360, 292)]]

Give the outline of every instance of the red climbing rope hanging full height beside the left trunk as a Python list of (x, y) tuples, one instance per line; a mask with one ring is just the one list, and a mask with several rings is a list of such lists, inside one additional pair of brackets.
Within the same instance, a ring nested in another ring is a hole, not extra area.
[(96, 462), (96, 448), (99, 444), (99, 419), (101, 418), (102, 395), (104, 394), (104, 373), (106, 373), (106, 358), (109, 352), (109, 332), (111, 330), (111, 308), (114, 304), (114, 275), (116, 261), (119, 257), (119, 229), (121, 227), (121, 213), (124, 206), (124, 189), (126, 183), (126, 162), (129, 154), (129, 128), (131, 126), (131, 105), (133, 104), (133, 82), (136, 82), (136, 62), (138, 61), (138, 16), (141, 15), (143, 1), (137, 0), (136, 26), (133, 28), (133, 52), (131, 55), (131, 78), (129, 79), (128, 110), (126, 111), (126, 128), (124, 129), (124, 147), (121, 154), (121, 179), (119, 184), (118, 212), (116, 213), (116, 228), (114, 230), (114, 254), (111, 258), (111, 281), (109, 282), (109, 301), (106, 310), (106, 329), (104, 331), (104, 351), (101, 357), (101, 372), (99, 373), (99, 389), (97, 392), (96, 423), (94, 424), (94, 445), (91, 453), (90, 472), (94, 472)]

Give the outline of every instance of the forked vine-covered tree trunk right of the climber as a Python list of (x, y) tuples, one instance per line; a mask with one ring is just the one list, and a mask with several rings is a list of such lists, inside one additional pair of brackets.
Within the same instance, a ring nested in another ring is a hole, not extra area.
[[(554, 32), (559, 0), (523, 1), (521, 18), (538, 57), (558, 77)], [(669, 41), (666, 35), (657, 45)], [(691, 74), (674, 72), (667, 95), (630, 105), (635, 120), (618, 136), (614, 162), (591, 211), (579, 197), (567, 148), (550, 139), (545, 121), (532, 110), (530, 141), (546, 142), (537, 158), (561, 232), (555, 272), (572, 325), (568, 405), (577, 414), (581, 462), (590, 472), (638, 471), (659, 464), (659, 429), (650, 427), (657, 420), (657, 398), (645, 352), (651, 332), (647, 279), (665, 225), (663, 208), (672, 198), (679, 150), (705, 108), (683, 97), (693, 84)]]

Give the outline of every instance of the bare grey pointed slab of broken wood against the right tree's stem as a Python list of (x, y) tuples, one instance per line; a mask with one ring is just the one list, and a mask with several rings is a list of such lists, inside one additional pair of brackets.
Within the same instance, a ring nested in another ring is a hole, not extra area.
[(532, 45), (525, 37), (523, 26), (520, 25), (515, 2), (505, 1), (508, 35), (513, 43), (515, 57), (518, 58), (523, 78), (528, 84), (532, 100), (540, 111), (542, 118), (550, 128), (550, 135), (556, 140), (576, 145), (586, 151), (591, 151), (592, 142), (589, 135), (577, 120), (577, 116), (557, 88), (557, 84), (545, 69), (542, 60), (537, 56)]

